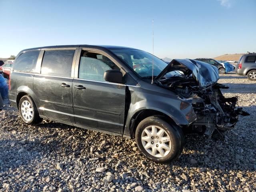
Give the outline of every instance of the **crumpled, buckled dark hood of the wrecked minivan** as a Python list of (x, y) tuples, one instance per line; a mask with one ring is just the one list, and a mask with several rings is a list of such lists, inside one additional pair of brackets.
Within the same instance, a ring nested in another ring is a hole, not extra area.
[(193, 59), (173, 59), (154, 81), (160, 80), (171, 71), (182, 71), (186, 76), (192, 75), (198, 85), (203, 87), (216, 83), (220, 78), (218, 68), (208, 63)]

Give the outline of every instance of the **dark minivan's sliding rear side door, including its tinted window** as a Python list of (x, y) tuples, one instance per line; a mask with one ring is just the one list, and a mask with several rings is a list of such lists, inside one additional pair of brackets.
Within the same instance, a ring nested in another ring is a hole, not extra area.
[(74, 123), (72, 63), (74, 49), (45, 50), (41, 74), (34, 76), (34, 92), (44, 116)]

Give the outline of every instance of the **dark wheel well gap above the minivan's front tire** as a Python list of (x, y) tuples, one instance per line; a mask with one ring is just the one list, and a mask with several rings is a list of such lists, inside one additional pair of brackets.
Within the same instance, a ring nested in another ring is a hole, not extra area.
[(174, 122), (174, 120), (172, 120), (172, 118), (170, 118), (168, 115), (157, 111), (157, 110), (151, 110), (151, 109), (146, 109), (146, 110), (141, 110), (139, 112), (137, 112), (136, 114), (134, 114), (134, 116), (132, 117), (131, 121), (130, 121), (130, 135), (131, 138), (135, 137), (135, 132), (136, 132), (136, 128), (138, 126), (138, 124), (144, 120), (147, 117), (150, 116), (160, 116), (161, 118), (163, 118), (166, 122), (172, 124), (176, 124)]

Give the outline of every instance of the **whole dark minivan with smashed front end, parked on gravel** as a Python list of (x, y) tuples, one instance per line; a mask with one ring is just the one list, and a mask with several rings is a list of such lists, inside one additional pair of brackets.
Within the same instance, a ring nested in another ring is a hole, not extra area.
[(18, 54), (9, 98), (27, 124), (45, 118), (135, 138), (144, 156), (167, 162), (181, 154), (183, 132), (220, 134), (247, 115), (218, 78), (204, 62), (166, 64), (133, 48), (51, 46)]

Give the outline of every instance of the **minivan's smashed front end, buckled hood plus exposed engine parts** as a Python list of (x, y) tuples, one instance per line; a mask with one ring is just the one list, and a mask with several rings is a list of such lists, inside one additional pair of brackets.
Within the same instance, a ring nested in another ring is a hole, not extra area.
[(222, 135), (222, 132), (234, 128), (238, 115), (249, 115), (242, 108), (236, 107), (238, 97), (223, 96), (221, 89), (228, 87), (217, 83), (218, 69), (214, 66), (195, 60), (172, 60), (169, 65), (156, 82), (175, 92), (181, 100), (192, 100), (196, 121), (190, 128), (194, 132), (206, 136), (216, 132)]

